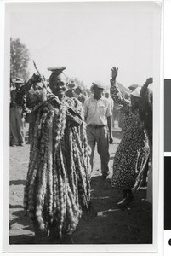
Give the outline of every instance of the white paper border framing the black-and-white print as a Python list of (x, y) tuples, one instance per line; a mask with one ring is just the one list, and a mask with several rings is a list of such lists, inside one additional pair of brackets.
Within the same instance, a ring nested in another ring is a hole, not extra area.
[[(6, 3), (9, 2), (14, 2), (14, 1), (5, 1)], [(25, 2), (25, 1), (19, 1), (19, 2)], [(30, 1), (34, 2), (34, 1)], [(37, 1), (37, 2), (45, 2), (45, 1)], [(52, 1), (56, 2), (56, 1)], [(68, 1), (65, 1), (68, 2)], [(157, 4), (162, 4), (161, 2), (156, 2)], [(2, 4), (3, 6), (3, 4)], [(4, 6), (3, 6), (4, 7)], [(7, 35), (7, 30), (5, 29), (5, 34)], [(6, 38), (6, 36), (5, 36)], [(7, 41), (5, 41), (5, 49), (7, 49)], [(6, 56), (7, 52), (5, 52)], [(161, 59), (162, 62), (162, 59)], [(5, 58), (5, 70), (9, 70), (9, 61)], [(158, 70), (158, 67), (157, 67)], [(5, 72), (6, 73), (6, 72)], [(161, 81), (162, 84), (162, 72), (158, 73), (158, 79)], [(4, 78), (4, 84), (9, 83), (9, 77), (5, 75)], [(162, 85), (161, 85), (162, 87)], [(161, 193), (158, 193), (158, 186), (162, 188), (162, 174), (158, 172), (159, 166), (161, 167), (161, 150), (160, 148), (162, 147), (162, 142), (159, 141), (159, 135), (162, 131), (161, 125), (161, 112), (162, 112), (162, 107), (158, 102), (161, 102), (162, 99), (162, 88), (158, 88), (159, 90), (154, 89), (154, 109), (160, 109), (160, 111), (157, 111), (154, 113), (154, 119), (153, 119), (153, 124), (154, 124), (154, 131), (153, 131), (153, 137), (155, 138), (154, 140), (154, 154), (153, 154), (153, 170), (155, 170), (155, 175), (153, 176), (153, 195), (154, 195), (154, 205), (155, 207), (153, 208), (153, 239), (154, 242), (152, 245), (77, 245), (77, 250), (76, 250), (76, 245), (74, 245), (74, 250), (73, 246), (68, 245), (67, 250), (66, 250), (66, 245), (61, 245), (59, 249), (59, 245), (9, 245), (7, 241), (9, 241), (9, 230), (7, 229), (9, 227), (9, 190), (3, 189), (3, 252), (11, 252), (11, 253), (57, 253), (57, 252), (66, 252), (66, 253), (136, 253), (136, 252), (141, 252), (141, 253), (156, 253), (159, 251), (159, 240), (161, 239), (161, 232), (159, 234), (159, 230), (161, 230), (161, 221), (159, 222), (159, 218), (162, 216), (162, 211), (160, 209), (160, 206), (162, 205), (161, 202)], [(8, 113), (9, 111), (9, 95), (7, 95), (7, 92), (4, 91), (5, 97), (4, 97), (4, 126), (3, 126), (3, 137), (4, 137), (4, 143), (3, 143), (3, 170), (9, 170), (9, 162), (7, 162), (7, 159), (9, 159), (9, 120), (7, 119), (7, 115), (5, 113)], [(5, 129), (4, 129), (5, 128)], [(157, 175), (156, 175), (157, 173)], [(9, 172), (3, 172), (3, 187), (6, 188), (7, 181), (9, 181)], [(162, 207), (163, 209), (163, 207)], [(160, 216), (160, 217), (159, 217)], [(160, 224), (159, 224), (160, 223)], [(134, 246), (134, 247), (133, 247)], [(58, 250), (57, 250), (58, 247)], [(97, 250), (98, 248), (98, 250)], [(121, 255), (121, 254), (120, 254)]]

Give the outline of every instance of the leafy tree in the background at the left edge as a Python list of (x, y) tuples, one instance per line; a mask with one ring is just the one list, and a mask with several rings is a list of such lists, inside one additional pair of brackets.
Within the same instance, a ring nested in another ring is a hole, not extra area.
[(10, 38), (10, 78), (29, 78), (28, 63), (30, 60), (29, 50), (20, 42), (19, 38)]

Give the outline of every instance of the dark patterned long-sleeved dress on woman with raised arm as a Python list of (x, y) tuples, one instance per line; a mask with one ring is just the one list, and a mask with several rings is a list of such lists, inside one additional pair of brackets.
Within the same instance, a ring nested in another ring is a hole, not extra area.
[(117, 148), (113, 163), (111, 186), (118, 189), (138, 189), (149, 155), (148, 137), (139, 110), (133, 109), (111, 80), (111, 97), (128, 108), (124, 116), (123, 139)]

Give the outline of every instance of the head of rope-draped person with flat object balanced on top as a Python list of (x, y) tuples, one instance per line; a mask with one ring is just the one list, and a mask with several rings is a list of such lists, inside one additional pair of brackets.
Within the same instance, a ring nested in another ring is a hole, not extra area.
[(49, 78), (49, 87), (54, 93), (55, 96), (58, 96), (61, 100), (65, 96), (66, 92), (66, 75), (62, 71), (66, 69), (65, 67), (61, 68), (48, 68), (52, 71)]

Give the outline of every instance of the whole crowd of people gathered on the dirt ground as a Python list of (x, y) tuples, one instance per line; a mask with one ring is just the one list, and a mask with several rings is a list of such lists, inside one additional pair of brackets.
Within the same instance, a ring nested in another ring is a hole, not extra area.
[(15, 79), (10, 101), (10, 145), (25, 144), (24, 123), (29, 122), (30, 158), (24, 208), (32, 220), (37, 242), (57, 240), (77, 228), (89, 211), (94, 148), (100, 155), (102, 179), (109, 175), (109, 144), (113, 108), (123, 114), (123, 135), (113, 161), (111, 188), (121, 189), (117, 207), (128, 207), (147, 179), (152, 145), (152, 92), (146, 79), (123, 96), (117, 86), (118, 68), (111, 68), (110, 90), (92, 83), (89, 96), (65, 67), (48, 68), (24, 82)]

